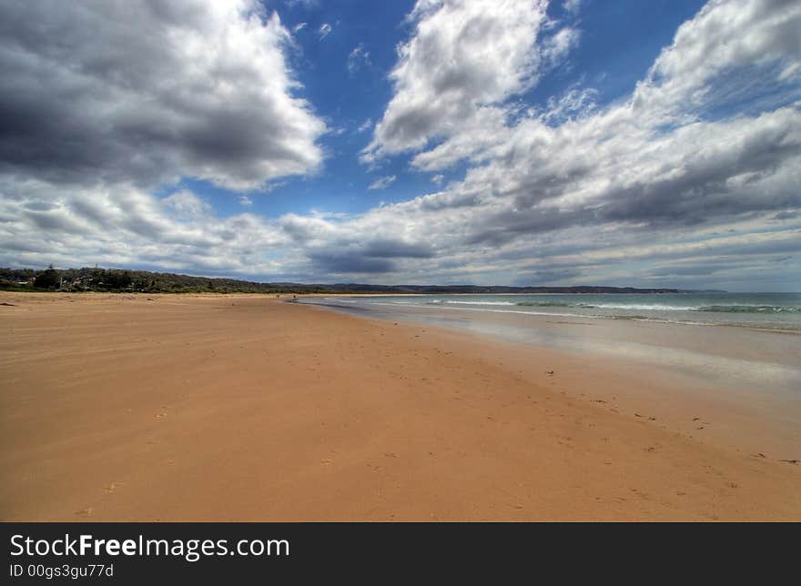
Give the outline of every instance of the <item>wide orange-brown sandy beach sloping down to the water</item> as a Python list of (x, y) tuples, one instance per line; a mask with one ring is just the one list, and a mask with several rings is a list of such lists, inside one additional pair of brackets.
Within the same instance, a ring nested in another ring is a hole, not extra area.
[(266, 296), (0, 303), (0, 520), (801, 520), (797, 429), (624, 362)]

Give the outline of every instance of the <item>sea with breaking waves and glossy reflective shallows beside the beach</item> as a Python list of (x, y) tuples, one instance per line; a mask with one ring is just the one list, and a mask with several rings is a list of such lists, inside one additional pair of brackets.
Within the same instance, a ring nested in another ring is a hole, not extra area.
[(662, 367), (801, 400), (801, 294), (651, 293), (302, 298), (352, 315)]

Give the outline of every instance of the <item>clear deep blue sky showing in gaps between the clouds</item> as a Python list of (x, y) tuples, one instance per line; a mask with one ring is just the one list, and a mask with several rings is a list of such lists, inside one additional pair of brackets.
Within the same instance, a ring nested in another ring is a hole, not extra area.
[[(364, 124), (379, 120), (392, 96), (387, 75), (395, 65), (395, 46), (410, 34), (405, 22), (413, 1), (369, 2), (265, 2), (276, 10), (294, 33), (297, 47), (289, 51), (295, 76), (303, 84), (300, 92), (331, 127), (320, 143), (325, 147), (325, 168), (308, 177), (285, 177), (268, 193), (252, 195), (250, 210), (269, 217), (288, 212), (307, 214), (313, 210), (358, 213), (382, 201), (397, 202), (432, 190), (431, 177), (409, 167), (410, 157), (392, 157), (371, 170), (359, 162), (359, 153), (370, 141)], [(550, 96), (573, 84), (592, 84), (603, 106), (626, 96), (644, 76), (664, 45), (669, 45), (675, 29), (692, 17), (703, 2), (636, 0), (585, 2), (581, 15), (570, 15), (561, 3), (548, 6), (554, 19), (579, 23), (584, 31), (569, 66), (554, 71), (542, 83), (522, 94), (527, 104), (545, 106)], [(305, 24), (305, 25), (304, 25)], [(331, 26), (321, 35), (322, 25)], [(368, 61), (360, 59), (349, 69), (349, 56), (362, 46)], [(370, 125), (371, 129), (371, 125)], [(447, 169), (443, 181), (460, 179), (465, 167)], [(380, 177), (397, 177), (381, 190), (370, 190)], [(221, 216), (241, 211), (238, 193), (220, 189), (208, 181), (185, 183), (212, 204)]]

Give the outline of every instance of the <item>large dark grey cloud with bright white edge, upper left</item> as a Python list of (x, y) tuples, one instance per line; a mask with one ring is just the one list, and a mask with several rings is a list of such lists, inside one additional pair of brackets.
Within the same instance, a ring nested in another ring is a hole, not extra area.
[(256, 0), (3, 3), (0, 35), (5, 174), (248, 189), (322, 161), (289, 32)]

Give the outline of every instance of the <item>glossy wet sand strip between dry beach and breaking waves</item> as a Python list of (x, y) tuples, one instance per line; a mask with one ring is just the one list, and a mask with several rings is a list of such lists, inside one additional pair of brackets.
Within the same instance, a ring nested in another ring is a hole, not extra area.
[[(507, 364), (556, 359), (560, 389), (747, 453), (794, 460), (801, 449), (801, 335), (730, 326), (576, 318), (372, 298), (302, 298), (361, 318), (446, 328), (512, 344)], [(556, 351), (554, 353), (554, 350)], [(584, 384), (593, 380), (593, 385)], [(557, 383), (554, 379), (552, 383)], [(596, 391), (603, 389), (603, 393)], [(613, 389), (610, 394), (607, 392)]]

